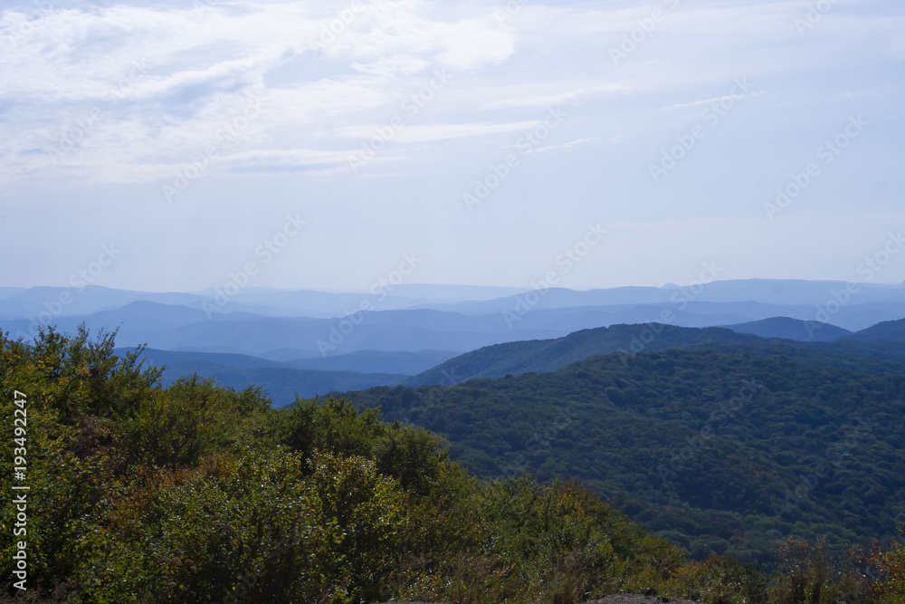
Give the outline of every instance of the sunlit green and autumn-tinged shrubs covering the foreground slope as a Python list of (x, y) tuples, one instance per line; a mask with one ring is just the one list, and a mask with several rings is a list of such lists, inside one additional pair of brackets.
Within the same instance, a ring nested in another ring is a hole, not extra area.
[[(901, 601), (900, 546), (851, 567), (877, 569), (868, 581), (792, 543), (783, 562), (795, 571), (767, 580), (728, 559), (686, 559), (579, 484), (481, 482), (437, 436), (376, 410), (337, 398), (273, 409), (257, 388), (204, 379), (160, 388), (159, 370), (112, 350), (110, 334), (0, 336), (5, 416), (15, 390), (27, 398), (31, 487), (30, 590), (7, 582), (8, 597), (567, 604), (625, 590), (785, 602), (818, 589)], [(13, 465), (12, 439), (0, 452)], [(8, 538), (8, 497), (2, 507)], [(0, 546), (8, 563), (14, 543)]]

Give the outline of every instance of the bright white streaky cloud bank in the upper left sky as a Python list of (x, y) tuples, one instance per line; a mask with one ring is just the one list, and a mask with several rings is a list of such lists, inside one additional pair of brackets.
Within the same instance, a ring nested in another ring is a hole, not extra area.
[[(361, 116), (367, 124), (368, 110), (398, 104), (434, 66), (473, 70), (506, 60), (513, 46), (513, 34), (490, 18), (444, 21), (421, 0), (202, 7), (52, 8), (33, 23), (27, 7), (3, 11), (0, 43), (14, 48), (0, 54), (3, 102), (18, 119), (0, 123), (0, 178), (151, 177), (207, 144), (249, 94), (267, 107), (244, 144), (307, 165), (295, 149), (329, 137), (325, 122)], [(410, 136), (469, 136), (465, 129)], [(260, 169), (254, 149), (229, 165), (239, 169), (245, 158)], [(121, 166), (101, 163), (111, 158)]]

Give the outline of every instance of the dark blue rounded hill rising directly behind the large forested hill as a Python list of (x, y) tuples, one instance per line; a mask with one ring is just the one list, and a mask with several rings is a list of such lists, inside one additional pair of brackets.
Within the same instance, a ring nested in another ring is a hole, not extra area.
[(447, 360), (406, 379), (405, 386), (451, 385), (472, 378), (502, 378), (529, 371), (547, 372), (576, 360), (618, 350), (636, 354), (694, 346), (701, 343), (757, 343), (755, 335), (721, 327), (675, 327), (661, 323), (612, 325), (570, 333), (553, 340), (514, 341), (486, 346)]

